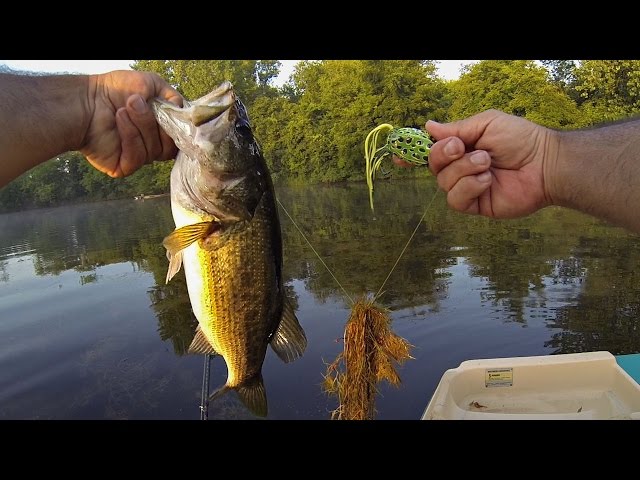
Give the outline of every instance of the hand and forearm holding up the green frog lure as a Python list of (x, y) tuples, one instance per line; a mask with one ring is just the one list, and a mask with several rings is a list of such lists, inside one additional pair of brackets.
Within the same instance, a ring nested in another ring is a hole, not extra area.
[(640, 232), (630, 208), (640, 204), (640, 120), (558, 131), (487, 110), (425, 127), (437, 140), (429, 168), (454, 210), (517, 218), (557, 205)]

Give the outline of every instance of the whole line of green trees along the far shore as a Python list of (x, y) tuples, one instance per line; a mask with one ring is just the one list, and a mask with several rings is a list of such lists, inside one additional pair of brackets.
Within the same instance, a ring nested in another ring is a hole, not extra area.
[[(429, 119), (496, 108), (575, 129), (640, 110), (638, 60), (484, 60), (452, 81), (438, 76), (433, 60), (302, 61), (275, 87), (280, 66), (277, 60), (137, 60), (132, 68), (157, 72), (188, 99), (231, 81), (274, 178), (297, 183), (364, 180), (364, 138), (381, 123), (421, 127)], [(111, 179), (79, 152), (67, 152), (0, 189), (0, 211), (166, 193), (171, 167), (156, 162)]]

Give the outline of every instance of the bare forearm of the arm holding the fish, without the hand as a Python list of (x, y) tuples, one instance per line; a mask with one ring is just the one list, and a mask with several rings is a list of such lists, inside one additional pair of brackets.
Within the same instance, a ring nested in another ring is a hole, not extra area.
[(80, 148), (92, 92), (87, 75), (0, 74), (0, 187)]

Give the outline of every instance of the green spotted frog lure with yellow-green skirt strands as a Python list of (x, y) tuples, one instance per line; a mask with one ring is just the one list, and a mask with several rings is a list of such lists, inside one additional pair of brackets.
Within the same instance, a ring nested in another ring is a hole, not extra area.
[[(378, 147), (378, 137), (383, 132), (390, 132), (387, 141)], [(429, 134), (417, 128), (394, 128), (383, 123), (369, 132), (364, 141), (364, 158), (367, 164), (367, 184), (369, 185), (369, 203), (373, 210), (373, 180), (376, 172), (381, 170), (382, 160), (390, 154), (415, 165), (429, 166), (433, 140)], [(383, 175), (386, 174), (384, 170)]]

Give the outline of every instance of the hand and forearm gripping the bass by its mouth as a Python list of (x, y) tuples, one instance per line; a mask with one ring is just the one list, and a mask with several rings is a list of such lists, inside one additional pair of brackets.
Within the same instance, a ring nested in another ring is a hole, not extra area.
[(180, 94), (155, 73), (1, 73), (0, 187), (72, 150), (112, 177), (174, 158), (173, 140), (146, 103), (155, 97), (182, 105)]

